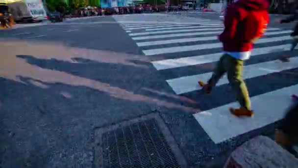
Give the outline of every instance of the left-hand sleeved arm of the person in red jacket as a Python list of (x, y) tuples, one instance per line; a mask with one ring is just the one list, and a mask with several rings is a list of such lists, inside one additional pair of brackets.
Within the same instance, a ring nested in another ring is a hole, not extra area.
[(220, 41), (230, 40), (235, 36), (235, 31), (237, 27), (237, 12), (233, 7), (228, 7), (226, 9), (226, 14), (224, 16), (224, 31), (219, 35)]

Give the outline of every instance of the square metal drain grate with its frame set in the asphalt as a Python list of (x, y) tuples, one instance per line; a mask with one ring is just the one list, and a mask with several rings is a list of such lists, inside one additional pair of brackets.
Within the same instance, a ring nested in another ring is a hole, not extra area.
[(186, 162), (158, 114), (96, 130), (98, 168), (184, 168)]

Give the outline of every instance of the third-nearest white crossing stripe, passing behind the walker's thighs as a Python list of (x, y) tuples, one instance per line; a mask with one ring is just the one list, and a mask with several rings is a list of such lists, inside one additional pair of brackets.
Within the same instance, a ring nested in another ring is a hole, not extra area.
[[(290, 49), (289, 44), (271, 46), (271, 47), (260, 47), (260, 48), (253, 49), (251, 52), (251, 56), (281, 52), (289, 49)], [(208, 54), (208, 55), (201, 55), (201, 56), (189, 56), (189, 57), (176, 58), (176, 59), (152, 61), (151, 63), (157, 70), (163, 70), (163, 69), (171, 69), (171, 68), (215, 62), (215, 61), (218, 61), (222, 55), (223, 53), (215, 53), (215, 54)]]

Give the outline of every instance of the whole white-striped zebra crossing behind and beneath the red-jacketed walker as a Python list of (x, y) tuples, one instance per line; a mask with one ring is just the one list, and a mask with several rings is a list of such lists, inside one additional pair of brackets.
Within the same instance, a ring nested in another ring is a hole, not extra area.
[[(197, 93), (200, 89), (198, 80), (207, 81), (212, 74), (209, 67), (222, 56), (222, 43), (216, 37), (224, 29), (221, 21), (164, 14), (114, 18), (144, 55), (152, 58), (151, 63), (156, 70), (170, 74), (165, 76), (165, 81), (175, 94), (206, 96)], [(289, 75), (298, 68), (298, 57), (292, 54), (289, 62), (278, 59), (283, 54), (290, 54), (291, 32), (268, 28), (254, 45), (250, 60), (245, 62), (244, 79), (249, 82), (252, 110), (255, 111), (253, 118), (231, 115), (228, 108), (239, 105), (235, 98), (225, 99), (227, 94), (220, 95), (220, 100), (214, 100), (224, 103), (214, 103), (212, 107), (203, 109), (205, 111), (194, 114), (216, 144), (282, 119), (291, 94), (298, 93), (298, 80)], [(288, 74), (288, 77), (281, 76), (283, 74)], [(227, 79), (223, 78), (216, 87), (226, 89), (227, 85)], [(260, 89), (262, 85), (268, 87)]]

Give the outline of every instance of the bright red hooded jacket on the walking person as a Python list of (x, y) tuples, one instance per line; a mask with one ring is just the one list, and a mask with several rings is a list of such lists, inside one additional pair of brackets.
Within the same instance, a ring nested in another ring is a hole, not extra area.
[(226, 52), (251, 51), (270, 21), (268, 0), (239, 0), (227, 7), (224, 32), (219, 36)]

